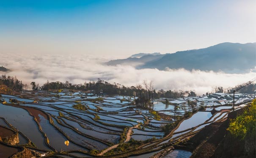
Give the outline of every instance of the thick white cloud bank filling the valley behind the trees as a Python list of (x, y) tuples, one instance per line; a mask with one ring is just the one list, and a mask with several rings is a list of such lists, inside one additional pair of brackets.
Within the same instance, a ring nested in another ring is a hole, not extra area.
[(206, 72), (200, 70), (187, 71), (184, 69), (136, 70), (132, 66), (107, 66), (103, 64), (110, 58), (78, 55), (10, 55), (0, 54), (0, 65), (11, 69), (11, 72), (0, 72), (17, 76), (23, 83), (30, 85), (35, 81), (42, 85), (49, 81), (69, 81), (84, 83), (96, 81), (97, 78), (110, 83), (120, 83), (125, 86), (135, 86), (144, 79), (153, 80), (155, 88), (171, 90), (195, 90), (197, 94), (212, 91), (212, 87), (231, 87), (256, 77), (256, 72), (246, 74), (226, 74), (223, 72)]

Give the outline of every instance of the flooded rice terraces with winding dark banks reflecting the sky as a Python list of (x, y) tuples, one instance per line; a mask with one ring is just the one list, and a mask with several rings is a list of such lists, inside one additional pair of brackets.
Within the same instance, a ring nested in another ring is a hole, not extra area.
[[(151, 108), (162, 115), (171, 115), (171, 118), (165, 120), (157, 118), (149, 108), (135, 106), (135, 98), (130, 96), (22, 91), (16, 95), (0, 96), (0, 99), (6, 102), (0, 103), (0, 126), (18, 131), (18, 145), (26, 145), (44, 153), (52, 151), (63, 158), (67, 156), (66, 151), (70, 152), (71, 157), (92, 157), (92, 151), (100, 153), (112, 146), (125, 143), (123, 136), (128, 137), (130, 132), (128, 142), (133, 140), (145, 144), (130, 154), (136, 152), (151, 156), (157, 153), (153, 150), (155, 147), (160, 147), (161, 150), (164, 145), (177, 139), (182, 140), (191, 132), (225, 119), (232, 108), (232, 98), (231, 94), (210, 94), (167, 99), (167, 102), (166, 99), (156, 99)], [(236, 109), (244, 106), (240, 104), (252, 99), (249, 94), (235, 95)], [(193, 109), (189, 102), (195, 102)], [(165, 125), (174, 123), (174, 115), (182, 117), (184, 113), (198, 110), (200, 107), (205, 108), (182, 120), (171, 133), (166, 134), (162, 130)], [(66, 140), (69, 140), (68, 147), (64, 144)], [(154, 142), (147, 144), (149, 140)], [(10, 151), (9, 154), (17, 153), (19, 150), (7, 146), (3, 149)], [(178, 158), (179, 155), (186, 157), (190, 154), (174, 150), (166, 156)], [(94, 157), (97, 156), (94, 154)]]

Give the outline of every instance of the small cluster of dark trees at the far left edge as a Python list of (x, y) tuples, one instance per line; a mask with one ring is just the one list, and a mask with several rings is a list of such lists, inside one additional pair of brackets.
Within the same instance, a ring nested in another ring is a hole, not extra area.
[(0, 76), (0, 85), (6, 85), (8, 88), (15, 91), (20, 91), (25, 86), (22, 84), (22, 81), (18, 80), (16, 77), (6, 75)]

